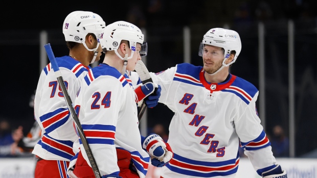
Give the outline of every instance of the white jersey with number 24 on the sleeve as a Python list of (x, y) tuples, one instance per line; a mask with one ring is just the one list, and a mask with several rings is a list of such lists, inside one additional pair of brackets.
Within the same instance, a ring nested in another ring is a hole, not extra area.
[[(135, 92), (127, 74), (104, 63), (89, 70), (75, 108), (102, 175), (119, 173), (117, 147), (130, 152), (135, 169), (145, 177), (149, 155), (142, 148)], [(84, 150), (81, 141), (80, 150)], [(85, 151), (82, 155), (90, 165)]]

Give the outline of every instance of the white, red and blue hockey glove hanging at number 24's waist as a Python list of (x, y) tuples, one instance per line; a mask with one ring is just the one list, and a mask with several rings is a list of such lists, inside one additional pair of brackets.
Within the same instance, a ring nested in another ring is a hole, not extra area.
[(163, 141), (157, 134), (149, 134), (147, 137), (142, 137), (142, 147), (151, 156), (151, 163), (156, 167), (163, 167), (174, 156), (170, 145)]

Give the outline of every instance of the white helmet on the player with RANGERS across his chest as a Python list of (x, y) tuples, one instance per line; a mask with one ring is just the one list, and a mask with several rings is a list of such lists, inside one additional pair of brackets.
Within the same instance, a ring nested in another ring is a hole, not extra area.
[(203, 35), (202, 42), (199, 46), (199, 52), (198, 55), (202, 57), (202, 51), (203, 51), (203, 45), (208, 44), (212, 46), (218, 46), (222, 47), (224, 49), (224, 58), (229, 58), (231, 52), (235, 50), (236, 54), (234, 59), (229, 64), (223, 65), (229, 66), (233, 64), (240, 52), (241, 52), (241, 39), (239, 34), (236, 31), (228, 30), (228, 29), (222, 29), (222, 28), (213, 28), (210, 29), (205, 35)]

